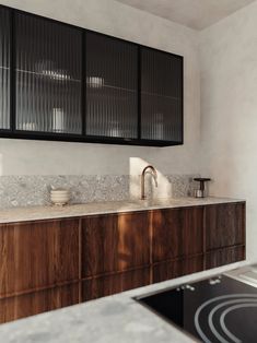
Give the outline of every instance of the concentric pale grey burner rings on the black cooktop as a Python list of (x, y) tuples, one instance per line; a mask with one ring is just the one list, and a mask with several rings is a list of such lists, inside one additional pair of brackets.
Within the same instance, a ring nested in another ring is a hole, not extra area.
[[(233, 299), (234, 298), (234, 299)], [(227, 300), (227, 301), (223, 301), (225, 299), (231, 299), (231, 300)], [(202, 312), (203, 309), (207, 308), (207, 306), (210, 306), (211, 304), (215, 303), (215, 301), (219, 301), (219, 300), (222, 300), (223, 303), (217, 305), (214, 308), (211, 309), (211, 311), (209, 312), (208, 315), (208, 324), (209, 324), (209, 328), (211, 330), (211, 332), (214, 334), (214, 336), (219, 340), (219, 342), (221, 343), (231, 343), (230, 341), (225, 340), (215, 329), (214, 324), (213, 324), (213, 316), (214, 314), (222, 307), (224, 306), (227, 306), (227, 305), (233, 305), (233, 304), (237, 304), (237, 306), (241, 306), (241, 307), (247, 307), (247, 305), (252, 305), (253, 301), (256, 303), (254, 304), (255, 306), (249, 306), (249, 307), (257, 307), (257, 295), (255, 294), (227, 294), (227, 295), (222, 295), (222, 296), (218, 296), (218, 297), (214, 297), (214, 298), (211, 298), (207, 301), (205, 301), (203, 304), (201, 304), (201, 306), (198, 307), (198, 309), (196, 310), (196, 314), (195, 314), (195, 318), (194, 318), (194, 321), (195, 321), (195, 327), (196, 327), (196, 330), (199, 334), (199, 336), (203, 340), (203, 342), (206, 343), (212, 343), (208, 336), (205, 334), (205, 332), (202, 331), (201, 329), (201, 326), (200, 326), (200, 314)], [(249, 303), (249, 304), (247, 304)], [(244, 305), (244, 306), (243, 306)], [(229, 307), (227, 309), (225, 309), (222, 315), (225, 312), (225, 316), (232, 310), (231, 308), (233, 308), (233, 306)], [(227, 311), (227, 312), (226, 312)], [(224, 318), (225, 316), (220, 317), (220, 326), (222, 328), (222, 330), (224, 331), (224, 333), (232, 340), (232, 342), (234, 343), (241, 343), (242, 341), (238, 340), (235, 335), (233, 335), (233, 333), (230, 332), (230, 330), (226, 328), (225, 326), (225, 322), (224, 322)], [(221, 321), (221, 318), (223, 319), (223, 321)], [(223, 323), (223, 326), (222, 326)], [(225, 330), (224, 330), (225, 329)], [(229, 334), (227, 334), (229, 333)]]

